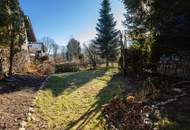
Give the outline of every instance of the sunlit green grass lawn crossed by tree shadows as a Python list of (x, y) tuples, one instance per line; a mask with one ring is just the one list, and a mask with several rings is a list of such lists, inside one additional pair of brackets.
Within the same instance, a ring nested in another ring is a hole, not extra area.
[(36, 99), (32, 130), (103, 130), (102, 105), (124, 90), (117, 69), (51, 76)]

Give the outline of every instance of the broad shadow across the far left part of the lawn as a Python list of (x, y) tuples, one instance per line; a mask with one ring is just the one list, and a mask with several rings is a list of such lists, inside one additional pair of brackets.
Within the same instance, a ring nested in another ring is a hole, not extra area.
[(103, 76), (105, 72), (106, 69), (99, 69), (54, 75), (44, 89), (50, 89), (55, 97), (61, 95), (65, 90), (71, 93), (85, 83)]

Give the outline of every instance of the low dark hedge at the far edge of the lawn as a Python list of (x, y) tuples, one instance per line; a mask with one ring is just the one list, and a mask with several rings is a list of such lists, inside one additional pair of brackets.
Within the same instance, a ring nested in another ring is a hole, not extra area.
[(55, 65), (56, 73), (65, 73), (65, 72), (77, 72), (79, 71), (79, 66), (76, 63), (65, 63)]

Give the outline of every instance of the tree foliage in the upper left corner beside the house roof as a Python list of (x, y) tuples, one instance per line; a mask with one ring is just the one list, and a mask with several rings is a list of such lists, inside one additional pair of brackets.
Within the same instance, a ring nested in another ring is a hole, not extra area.
[(0, 1), (0, 43), (9, 45), (11, 39), (14, 44), (24, 40), (24, 13), (18, 0)]

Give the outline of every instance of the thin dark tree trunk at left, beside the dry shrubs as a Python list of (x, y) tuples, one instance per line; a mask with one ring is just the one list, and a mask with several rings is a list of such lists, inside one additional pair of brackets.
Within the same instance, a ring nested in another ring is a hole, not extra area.
[(13, 41), (10, 44), (10, 56), (9, 56), (9, 76), (12, 76), (12, 71), (13, 71), (13, 57), (14, 57), (14, 43)]

